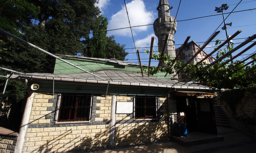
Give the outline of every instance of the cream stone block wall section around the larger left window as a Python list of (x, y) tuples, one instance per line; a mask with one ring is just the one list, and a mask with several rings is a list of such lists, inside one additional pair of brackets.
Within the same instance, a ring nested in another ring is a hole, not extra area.
[(93, 96), (90, 122), (56, 124), (58, 95), (35, 93), (23, 152), (61, 152), (109, 143), (111, 96)]

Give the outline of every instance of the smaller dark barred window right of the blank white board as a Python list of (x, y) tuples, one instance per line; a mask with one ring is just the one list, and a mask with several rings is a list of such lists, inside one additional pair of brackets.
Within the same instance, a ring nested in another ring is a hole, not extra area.
[(156, 118), (156, 98), (155, 97), (135, 97), (135, 118)]

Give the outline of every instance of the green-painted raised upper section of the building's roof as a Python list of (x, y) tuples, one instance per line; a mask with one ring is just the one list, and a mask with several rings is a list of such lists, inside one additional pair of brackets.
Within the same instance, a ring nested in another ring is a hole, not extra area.
[[(115, 71), (126, 71), (137, 73), (141, 71), (140, 65), (132, 62), (125, 62), (116, 59), (101, 59), (101, 58), (89, 58), (89, 57), (78, 57), (78, 56), (67, 56), (57, 55), (63, 60), (66, 60), (84, 70), (89, 72), (96, 72), (102, 70), (115, 70)], [(147, 68), (148, 65), (142, 64), (143, 68)], [(56, 59), (54, 74), (72, 74), (72, 73), (84, 73), (84, 71), (73, 67), (61, 60)], [(144, 72), (144, 75), (147, 73)], [(158, 72), (153, 77), (158, 79), (169, 79), (170, 75), (164, 77), (164, 72)]]

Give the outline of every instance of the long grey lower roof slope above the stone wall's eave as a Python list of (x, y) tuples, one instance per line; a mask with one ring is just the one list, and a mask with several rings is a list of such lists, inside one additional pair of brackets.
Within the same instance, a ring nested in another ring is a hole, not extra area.
[(113, 85), (129, 85), (129, 86), (148, 86), (161, 88), (177, 88), (177, 89), (209, 89), (207, 86), (179, 83), (173, 80), (156, 79), (154, 77), (142, 77), (141, 74), (123, 71), (104, 70), (93, 72), (99, 77), (105, 79), (100, 80), (95, 78), (90, 73), (73, 73), (73, 74), (50, 74), (50, 73), (27, 73), (27, 74), (13, 74), (12, 78), (24, 79), (50, 79), (62, 81), (88, 82)]

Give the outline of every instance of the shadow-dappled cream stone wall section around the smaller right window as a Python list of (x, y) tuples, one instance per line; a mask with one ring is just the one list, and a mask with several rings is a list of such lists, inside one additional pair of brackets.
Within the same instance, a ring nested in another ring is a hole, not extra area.
[[(158, 119), (135, 119), (133, 114), (116, 114), (115, 142), (118, 145), (154, 142), (168, 137), (166, 98), (157, 98)], [(119, 96), (117, 101), (133, 101), (133, 97)]]

